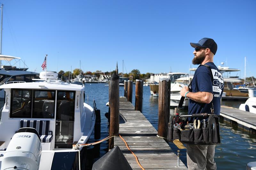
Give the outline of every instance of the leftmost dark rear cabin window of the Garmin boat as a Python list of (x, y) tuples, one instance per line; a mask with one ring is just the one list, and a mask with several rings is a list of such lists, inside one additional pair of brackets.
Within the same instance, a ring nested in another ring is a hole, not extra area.
[(12, 89), (10, 117), (30, 118), (32, 90)]

